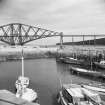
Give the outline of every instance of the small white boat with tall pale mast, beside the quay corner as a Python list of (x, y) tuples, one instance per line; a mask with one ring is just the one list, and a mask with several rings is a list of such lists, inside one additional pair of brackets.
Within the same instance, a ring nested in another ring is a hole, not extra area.
[(18, 77), (15, 83), (16, 86), (16, 97), (22, 98), (29, 102), (37, 102), (37, 93), (35, 90), (29, 88), (29, 78), (24, 75), (24, 57), (22, 49), (22, 74)]

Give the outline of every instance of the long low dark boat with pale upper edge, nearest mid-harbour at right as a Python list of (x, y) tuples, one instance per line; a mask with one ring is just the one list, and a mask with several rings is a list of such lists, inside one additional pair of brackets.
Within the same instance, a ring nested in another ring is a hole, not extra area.
[(91, 76), (91, 77), (97, 77), (97, 78), (105, 78), (105, 74), (93, 70), (87, 70), (79, 67), (70, 67), (70, 72), (72, 74), (80, 74), (80, 75), (85, 75), (85, 76)]

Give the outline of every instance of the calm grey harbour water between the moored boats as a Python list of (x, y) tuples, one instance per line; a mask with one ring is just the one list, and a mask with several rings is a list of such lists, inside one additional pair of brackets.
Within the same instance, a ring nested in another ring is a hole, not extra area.
[[(71, 75), (69, 66), (55, 59), (25, 60), (25, 76), (30, 87), (38, 93), (41, 105), (57, 105), (56, 95), (63, 83), (90, 83), (93, 80)], [(15, 92), (15, 81), (21, 74), (21, 61), (0, 64), (0, 89)], [(94, 81), (93, 81), (94, 82)]]

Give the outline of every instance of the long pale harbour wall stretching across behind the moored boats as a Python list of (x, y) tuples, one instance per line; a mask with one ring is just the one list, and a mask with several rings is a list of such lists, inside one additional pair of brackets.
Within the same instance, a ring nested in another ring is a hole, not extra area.
[[(105, 55), (105, 46), (82, 46), (82, 45), (64, 45), (63, 49), (56, 47), (23, 47), (25, 59), (40, 59), (40, 58), (56, 58), (58, 56), (72, 56), (73, 53), (77, 56), (98, 56)], [(21, 58), (21, 47), (1, 47), (0, 61), (19, 60)]]

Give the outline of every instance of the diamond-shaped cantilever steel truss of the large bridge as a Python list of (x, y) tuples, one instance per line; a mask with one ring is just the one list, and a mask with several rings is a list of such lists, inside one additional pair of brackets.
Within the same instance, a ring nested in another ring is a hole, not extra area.
[(10, 45), (24, 45), (33, 40), (53, 36), (61, 36), (61, 33), (20, 23), (0, 26), (0, 41)]

